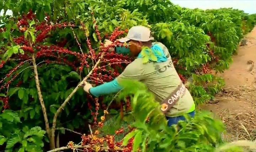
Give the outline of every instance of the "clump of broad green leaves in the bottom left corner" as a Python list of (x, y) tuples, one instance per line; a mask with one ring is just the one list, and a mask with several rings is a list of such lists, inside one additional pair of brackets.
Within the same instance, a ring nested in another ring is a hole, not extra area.
[(43, 138), (46, 131), (41, 127), (29, 128), (20, 121), (18, 113), (5, 110), (0, 114), (0, 145), (5, 151), (43, 151)]

